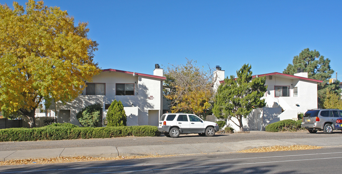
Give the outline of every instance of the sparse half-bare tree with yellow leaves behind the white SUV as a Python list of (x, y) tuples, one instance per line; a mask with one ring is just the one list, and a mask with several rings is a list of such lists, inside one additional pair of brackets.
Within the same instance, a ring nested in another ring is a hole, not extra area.
[(170, 88), (167, 99), (171, 101), (172, 112), (200, 115), (211, 107), (213, 99), (213, 69), (207, 71), (196, 66), (196, 61), (187, 60), (186, 65), (170, 65), (165, 72), (164, 84)]

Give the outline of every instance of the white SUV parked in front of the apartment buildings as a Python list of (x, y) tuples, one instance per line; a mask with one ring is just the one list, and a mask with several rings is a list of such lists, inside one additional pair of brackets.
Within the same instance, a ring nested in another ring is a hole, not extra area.
[(203, 121), (195, 114), (166, 113), (160, 117), (158, 130), (167, 137), (177, 138), (180, 134), (198, 133), (212, 137), (219, 131), (219, 125)]

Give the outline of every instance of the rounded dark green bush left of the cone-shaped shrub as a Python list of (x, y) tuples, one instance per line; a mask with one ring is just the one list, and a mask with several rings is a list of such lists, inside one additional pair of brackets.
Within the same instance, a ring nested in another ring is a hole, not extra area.
[(100, 123), (101, 115), (101, 104), (96, 103), (83, 108), (76, 114), (76, 118), (84, 127), (97, 127), (97, 124)]

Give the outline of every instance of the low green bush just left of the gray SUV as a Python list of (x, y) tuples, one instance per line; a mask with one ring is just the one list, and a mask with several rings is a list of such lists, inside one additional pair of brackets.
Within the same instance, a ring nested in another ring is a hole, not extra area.
[(294, 121), (291, 119), (288, 120), (281, 120), (279, 122), (275, 122), (272, 124), (269, 124), (265, 127), (266, 132), (279, 132), (279, 131), (297, 131), (301, 129), (301, 122), (299, 124), (299, 121)]

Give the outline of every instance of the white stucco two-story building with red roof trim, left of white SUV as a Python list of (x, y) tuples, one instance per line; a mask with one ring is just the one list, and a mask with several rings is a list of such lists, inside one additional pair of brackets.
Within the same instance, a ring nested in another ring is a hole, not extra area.
[[(82, 108), (100, 103), (103, 107), (103, 120), (111, 102), (120, 100), (127, 115), (127, 126), (158, 125), (163, 107), (163, 69), (155, 64), (153, 75), (128, 72), (117, 69), (103, 69), (99, 75), (86, 81), (87, 87), (73, 101), (56, 102), (55, 109), (59, 123), (80, 125), (76, 114)], [(105, 126), (105, 125), (103, 125)]]

